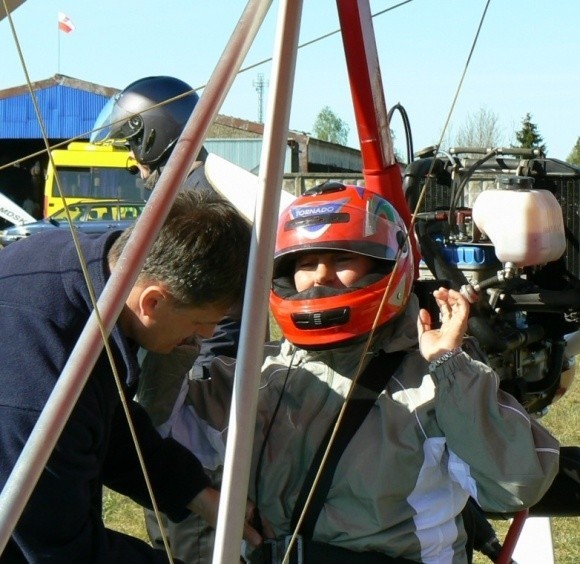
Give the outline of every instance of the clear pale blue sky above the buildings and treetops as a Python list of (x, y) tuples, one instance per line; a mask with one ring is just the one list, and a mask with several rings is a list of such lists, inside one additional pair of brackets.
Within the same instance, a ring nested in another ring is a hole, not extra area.
[[(0, 21), (0, 89), (25, 84), (27, 75), (37, 81), (60, 73), (123, 88), (164, 74), (201, 94), (245, 6), (243, 0), (26, 0), (12, 13), (18, 47), (8, 19)], [(439, 142), (450, 116), (447, 148), (469, 118), (485, 110), (497, 117), (502, 145), (515, 143), (529, 113), (548, 156), (570, 154), (580, 137), (580, 2), (370, 0), (370, 7), (377, 14), (387, 110), (397, 103), (405, 108), (415, 151)], [(260, 112), (268, 115), (278, 8), (273, 0), (221, 114), (252, 121)], [(58, 31), (58, 12), (74, 31)], [(299, 43), (309, 44), (298, 50), (290, 129), (312, 133), (327, 106), (348, 126), (348, 145), (358, 148), (342, 39), (332, 33), (338, 30), (336, 2), (304, 0)], [(395, 148), (405, 155), (397, 114), (391, 127)]]

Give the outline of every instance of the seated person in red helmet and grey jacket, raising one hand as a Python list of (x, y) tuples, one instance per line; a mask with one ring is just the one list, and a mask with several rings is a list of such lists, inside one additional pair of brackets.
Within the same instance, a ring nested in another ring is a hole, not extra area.
[[(322, 185), (280, 216), (270, 305), (283, 338), (265, 350), (249, 484), (271, 541), (252, 562), (282, 562), (297, 531), (305, 564), (464, 564), (470, 497), (514, 512), (554, 478), (558, 442), (477, 360), (468, 302), (436, 290), (435, 329), (413, 269), (404, 222), (362, 187)], [(179, 416), (206, 429), (192, 450), (217, 457), (235, 362), (209, 371)]]

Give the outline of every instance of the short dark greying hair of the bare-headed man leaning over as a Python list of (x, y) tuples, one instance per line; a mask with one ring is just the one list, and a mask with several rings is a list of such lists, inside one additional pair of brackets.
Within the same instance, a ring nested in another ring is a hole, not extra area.
[[(116, 263), (132, 227), (115, 241), (109, 258)], [(139, 279), (163, 283), (178, 305), (233, 305), (246, 279), (251, 229), (230, 204), (206, 190), (177, 195)]]

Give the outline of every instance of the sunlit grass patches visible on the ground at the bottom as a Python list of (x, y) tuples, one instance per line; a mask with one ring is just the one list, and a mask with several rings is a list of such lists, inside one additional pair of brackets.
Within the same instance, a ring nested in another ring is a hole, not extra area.
[[(580, 360), (580, 357), (578, 359)], [(576, 372), (576, 381), (571, 389), (550, 407), (548, 414), (541, 420), (562, 445), (580, 445), (580, 367)], [(104, 493), (103, 507), (108, 527), (147, 540), (143, 511), (135, 503), (107, 490)], [(580, 562), (580, 520), (577, 517), (554, 517), (551, 522), (555, 561), (558, 564)], [(499, 538), (503, 539), (508, 523), (495, 521), (493, 524)], [(475, 564), (489, 562), (488, 558), (475, 555)]]

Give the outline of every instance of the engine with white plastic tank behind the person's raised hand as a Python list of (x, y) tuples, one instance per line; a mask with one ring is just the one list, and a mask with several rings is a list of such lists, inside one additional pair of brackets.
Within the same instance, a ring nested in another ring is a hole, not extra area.
[(430, 148), (403, 188), (417, 209), (423, 305), (436, 312), (435, 287), (460, 290), (482, 360), (543, 415), (580, 353), (580, 168), (537, 150)]

